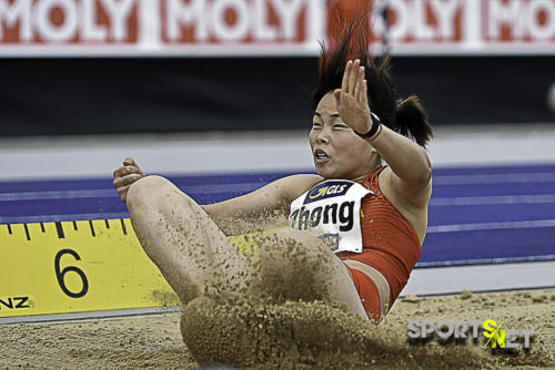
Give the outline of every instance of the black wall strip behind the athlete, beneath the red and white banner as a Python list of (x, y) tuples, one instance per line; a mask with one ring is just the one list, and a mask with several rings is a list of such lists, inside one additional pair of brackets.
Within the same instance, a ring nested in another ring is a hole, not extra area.
[[(392, 61), (434, 125), (555, 122), (555, 56)], [(0, 59), (10, 135), (291, 130), (310, 125), (315, 58)]]

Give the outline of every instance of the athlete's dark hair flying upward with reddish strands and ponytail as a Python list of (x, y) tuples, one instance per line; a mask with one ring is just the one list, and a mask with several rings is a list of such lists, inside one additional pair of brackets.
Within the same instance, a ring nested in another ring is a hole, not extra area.
[(367, 13), (357, 10), (350, 21), (337, 19), (340, 31), (332, 50), (329, 51), (322, 44), (320, 75), (312, 93), (312, 107), (315, 110), (326, 93), (341, 88), (347, 60), (360, 59), (361, 65), (365, 68), (370, 110), (391, 130), (414, 138), (421, 146), (426, 146), (434, 133), (424, 107), (415, 95), (405, 100), (398, 99), (390, 73), (389, 55), (370, 55)]

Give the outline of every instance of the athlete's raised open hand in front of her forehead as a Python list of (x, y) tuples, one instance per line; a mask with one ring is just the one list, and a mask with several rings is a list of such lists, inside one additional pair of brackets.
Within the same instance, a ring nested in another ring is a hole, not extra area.
[(341, 89), (335, 89), (333, 95), (343, 122), (354, 132), (366, 134), (372, 127), (372, 121), (364, 66), (361, 66), (359, 59), (346, 63)]

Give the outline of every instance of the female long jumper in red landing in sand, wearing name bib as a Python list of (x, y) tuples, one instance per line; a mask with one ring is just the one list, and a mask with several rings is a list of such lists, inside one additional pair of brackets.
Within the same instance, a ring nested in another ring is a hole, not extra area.
[[(309, 136), (317, 175), (280, 178), (200, 206), (170, 181), (144, 176), (132, 158), (114, 171), (142, 247), (183, 305), (211, 289), (245, 291), (252, 264), (223, 225), (278, 213), (291, 227), (261, 243), (262, 265), (286, 274), (290, 284), (310, 268), (314, 299), (344, 302), (375, 323), (387, 314), (426, 234), (432, 169), (424, 145), (433, 134), (416, 96), (397, 99), (387, 58), (369, 55), (361, 24), (351, 23), (321, 54)], [(291, 243), (302, 253), (272, 253)]]

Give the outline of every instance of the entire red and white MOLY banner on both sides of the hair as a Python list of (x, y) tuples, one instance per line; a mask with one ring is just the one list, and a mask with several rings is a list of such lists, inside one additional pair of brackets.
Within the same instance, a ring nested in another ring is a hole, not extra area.
[[(317, 55), (329, 20), (355, 2), (0, 0), (0, 56)], [(555, 0), (373, 2), (376, 50), (555, 54)]]

